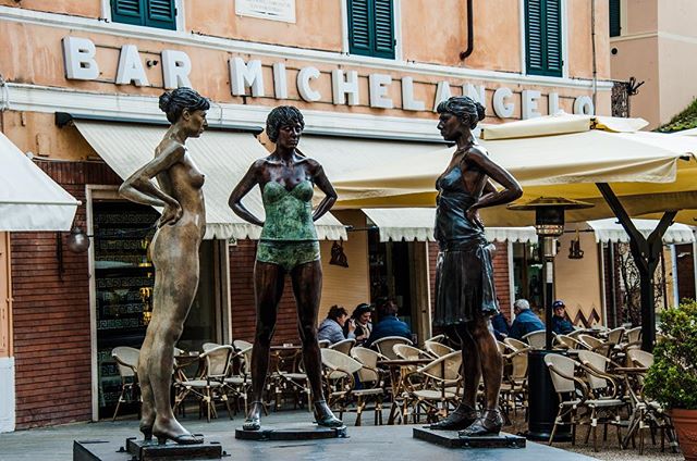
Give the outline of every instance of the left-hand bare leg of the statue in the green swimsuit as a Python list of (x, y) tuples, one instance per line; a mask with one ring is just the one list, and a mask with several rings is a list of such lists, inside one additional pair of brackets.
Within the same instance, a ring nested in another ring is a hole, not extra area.
[(285, 271), (278, 264), (257, 261), (254, 265), (257, 328), (252, 348), (252, 406), (243, 425), (245, 431), (261, 428), (261, 396), (269, 370), (269, 349), (276, 328), (279, 301), (283, 295), (284, 278)]

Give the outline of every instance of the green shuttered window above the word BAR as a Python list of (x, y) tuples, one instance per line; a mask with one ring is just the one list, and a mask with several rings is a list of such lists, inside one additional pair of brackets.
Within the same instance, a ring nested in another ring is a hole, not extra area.
[(114, 23), (176, 29), (174, 0), (111, 0)]

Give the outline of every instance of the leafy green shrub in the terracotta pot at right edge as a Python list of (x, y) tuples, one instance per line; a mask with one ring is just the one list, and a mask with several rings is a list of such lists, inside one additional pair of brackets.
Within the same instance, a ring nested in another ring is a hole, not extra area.
[(644, 393), (668, 408), (697, 410), (697, 302), (683, 302), (661, 315), (667, 338), (653, 349)]

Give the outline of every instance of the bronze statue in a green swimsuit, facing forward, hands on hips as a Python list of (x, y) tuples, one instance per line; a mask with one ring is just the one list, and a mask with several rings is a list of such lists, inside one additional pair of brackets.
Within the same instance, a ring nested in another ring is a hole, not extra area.
[[(305, 122), (290, 105), (273, 109), (266, 133), (276, 150), (252, 164), (230, 195), (229, 204), (243, 220), (262, 226), (254, 265), (257, 326), (252, 349), (252, 402), (243, 429), (258, 431), (264, 410), (261, 393), (269, 367), (269, 348), (276, 326), (285, 275), (291, 276), (297, 306), (303, 363), (310, 385), (315, 419), (326, 427), (341, 427), (325, 401), (321, 387), (321, 358), (317, 344), (317, 313), (322, 287), (319, 241), (314, 222), (337, 201), (337, 192), (322, 166), (297, 150)], [(259, 185), (266, 212), (261, 222), (242, 203)], [(325, 198), (313, 212), (311, 198), (317, 186)]]

